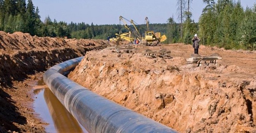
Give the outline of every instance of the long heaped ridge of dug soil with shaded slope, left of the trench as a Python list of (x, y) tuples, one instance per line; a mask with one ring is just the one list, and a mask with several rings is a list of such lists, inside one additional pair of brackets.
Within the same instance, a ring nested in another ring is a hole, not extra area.
[(70, 40), (41, 38), (15, 32), (0, 31), (0, 83), (10, 86), (12, 80), (20, 80), (27, 73), (46, 70), (57, 62), (85, 55), (86, 51), (106, 47), (104, 40)]

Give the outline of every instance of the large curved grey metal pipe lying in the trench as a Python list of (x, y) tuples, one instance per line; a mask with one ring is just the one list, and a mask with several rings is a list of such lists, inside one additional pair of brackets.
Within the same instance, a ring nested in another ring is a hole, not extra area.
[(177, 133), (62, 75), (74, 69), (82, 59), (71, 59), (51, 67), (44, 74), (44, 82), (89, 133)]

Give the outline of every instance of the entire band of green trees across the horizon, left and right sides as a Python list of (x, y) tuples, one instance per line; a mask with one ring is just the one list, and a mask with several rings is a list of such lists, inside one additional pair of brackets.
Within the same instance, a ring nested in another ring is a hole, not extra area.
[[(256, 5), (252, 8), (241, 6), (240, 0), (202, 0), (206, 5), (199, 22), (192, 20), (192, 0), (177, 0), (178, 21), (170, 17), (165, 24), (150, 24), (150, 30), (167, 36), (164, 43), (190, 44), (198, 34), (202, 44), (226, 49), (256, 49)], [(127, 32), (118, 24), (94, 25), (93, 23), (66, 23), (52, 21), (46, 17), (41, 21), (38, 7), (32, 0), (0, 0), (0, 30), (13, 33), (20, 31), (32, 36), (67, 37), (77, 39), (106, 39), (116, 33)], [(117, 18), (118, 19), (118, 18)], [(131, 26), (133, 29), (133, 27)], [(146, 24), (137, 25), (143, 35)]]

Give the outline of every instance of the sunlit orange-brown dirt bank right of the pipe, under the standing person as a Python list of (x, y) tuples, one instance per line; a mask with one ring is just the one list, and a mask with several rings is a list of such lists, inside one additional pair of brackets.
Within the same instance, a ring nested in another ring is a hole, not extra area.
[(147, 48), (173, 58), (146, 58), (146, 47), (91, 51), (68, 77), (180, 132), (256, 132), (255, 51), (201, 46), (199, 54), (219, 53), (222, 65), (190, 67), (191, 45)]

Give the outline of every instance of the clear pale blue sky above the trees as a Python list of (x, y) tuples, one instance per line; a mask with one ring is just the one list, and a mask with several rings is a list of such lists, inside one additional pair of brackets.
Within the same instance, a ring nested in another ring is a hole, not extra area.
[[(192, 2), (192, 18), (196, 22), (206, 6), (202, 1)], [(241, 0), (244, 8), (254, 3), (256, 0)], [(177, 0), (33, 0), (33, 4), (39, 8), (42, 21), (48, 15), (52, 20), (94, 25), (118, 24), (119, 16), (138, 24), (144, 24), (146, 16), (151, 23), (166, 23), (172, 16), (178, 21)]]

